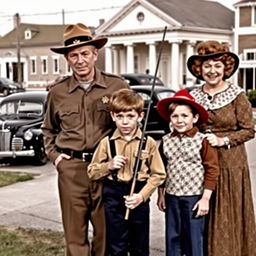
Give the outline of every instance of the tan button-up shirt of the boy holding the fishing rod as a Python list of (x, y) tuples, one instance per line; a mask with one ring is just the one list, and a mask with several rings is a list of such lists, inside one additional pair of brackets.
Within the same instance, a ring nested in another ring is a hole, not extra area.
[[(141, 130), (138, 129), (132, 140), (127, 141), (116, 129), (114, 134), (109, 138), (105, 137), (96, 149), (92, 162), (88, 166), (88, 176), (93, 180), (104, 177), (112, 179), (111, 170), (108, 169), (108, 161), (112, 159), (109, 139), (115, 140), (116, 154), (123, 155), (127, 161), (123, 168), (118, 170), (117, 178), (119, 181), (129, 182), (133, 177), (133, 169), (138, 153)], [(114, 156), (113, 156), (114, 157)], [(154, 192), (154, 190), (164, 182), (166, 174), (165, 168), (158, 151), (155, 140), (148, 136), (145, 150), (141, 153), (141, 169), (138, 172), (139, 181), (146, 181), (146, 185), (140, 193), (144, 200)]]

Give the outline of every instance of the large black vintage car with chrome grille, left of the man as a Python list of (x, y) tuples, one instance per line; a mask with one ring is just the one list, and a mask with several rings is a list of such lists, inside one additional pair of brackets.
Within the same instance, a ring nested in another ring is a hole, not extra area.
[(0, 103), (0, 162), (8, 158), (30, 157), (31, 163), (44, 165), (41, 125), (46, 110), (46, 91), (21, 92)]

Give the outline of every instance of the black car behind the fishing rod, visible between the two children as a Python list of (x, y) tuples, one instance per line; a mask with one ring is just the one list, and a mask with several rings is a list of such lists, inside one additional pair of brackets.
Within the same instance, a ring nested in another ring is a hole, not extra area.
[[(152, 90), (152, 85), (136, 85), (131, 86), (133, 90), (139, 93), (145, 101), (145, 114), (147, 111), (148, 103), (150, 101), (150, 95)], [(157, 102), (161, 99), (171, 97), (175, 94), (175, 91), (164, 87), (164, 86), (155, 86), (154, 92), (151, 101), (151, 108), (148, 116), (148, 123), (146, 127), (146, 133), (154, 136), (163, 135), (170, 132), (169, 124), (166, 122), (157, 112), (156, 105)]]

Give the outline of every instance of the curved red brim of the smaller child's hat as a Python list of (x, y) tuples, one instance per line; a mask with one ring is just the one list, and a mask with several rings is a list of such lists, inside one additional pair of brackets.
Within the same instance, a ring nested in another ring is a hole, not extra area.
[(169, 105), (173, 102), (179, 102), (179, 103), (185, 102), (190, 106), (192, 106), (193, 108), (195, 108), (199, 114), (199, 119), (197, 122), (198, 124), (206, 123), (208, 121), (208, 112), (203, 106), (185, 97), (175, 96), (175, 97), (165, 98), (163, 100), (160, 100), (157, 103), (157, 110), (159, 115), (167, 122), (170, 122), (170, 113), (168, 111), (168, 108), (169, 108)]

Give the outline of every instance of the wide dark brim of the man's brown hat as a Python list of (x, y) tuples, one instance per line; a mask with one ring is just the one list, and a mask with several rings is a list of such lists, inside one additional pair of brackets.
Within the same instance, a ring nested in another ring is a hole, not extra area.
[(100, 49), (107, 43), (107, 41), (108, 41), (107, 38), (99, 38), (99, 39), (94, 39), (89, 41), (83, 41), (76, 44), (71, 44), (68, 46), (50, 48), (50, 49), (55, 53), (66, 54), (69, 50), (80, 47), (80, 46), (84, 46), (84, 45), (94, 45), (97, 49)]

